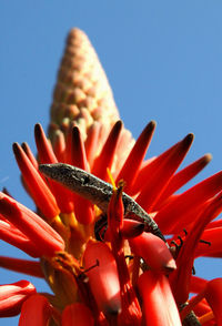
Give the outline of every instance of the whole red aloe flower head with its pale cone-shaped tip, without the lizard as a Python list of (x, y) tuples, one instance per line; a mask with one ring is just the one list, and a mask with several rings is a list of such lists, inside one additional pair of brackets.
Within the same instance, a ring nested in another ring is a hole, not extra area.
[[(154, 129), (151, 121), (132, 139), (87, 35), (71, 30), (49, 139), (37, 124), (38, 160), (27, 143), (13, 144), (37, 213), (0, 193), (0, 238), (38, 258), (0, 256), (0, 266), (44, 278), (52, 294), (28, 281), (1, 285), (1, 317), (21, 314), (20, 326), (222, 325), (222, 278), (193, 275), (196, 257), (222, 256), (222, 220), (213, 221), (222, 211), (222, 172), (178, 193), (211, 156), (178, 172), (193, 141), (188, 134), (145, 160)], [(111, 183), (107, 210), (95, 205), (97, 194), (88, 201), (39, 170), (58, 162)], [(157, 222), (165, 242), (137, 214), (125, 214), (123, 192)]]

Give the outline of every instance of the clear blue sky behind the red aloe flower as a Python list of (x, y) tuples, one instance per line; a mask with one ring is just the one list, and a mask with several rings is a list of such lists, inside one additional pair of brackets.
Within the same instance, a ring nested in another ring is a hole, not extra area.
[[(33, 125), (41, 122), (47, 129), (57, 70), (72, 27), (88, 33), (133, 135), (150, 120), (158, 122), (149, 155), (193, 132), (195, 140), (185, 163), (213, 154), (195, 182), (220, 171), (221, 13), (220, 0), (1, 0), (1, 187), (33, 207), (20, 185), (11, 144), (27, 141), (36, 152)], [(2, 254), (24, 257), (3, 243)], [(204, 261), (195, 267), (206, 278), (221, 276), (221, 261)], [(20, 275), (1, 269), (1, 283), (19, 279)], [(37, 279), (31, 281), (42, 288)], [(17, 325), (17, 318), (13, 323)]]

